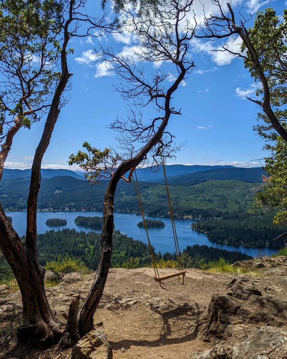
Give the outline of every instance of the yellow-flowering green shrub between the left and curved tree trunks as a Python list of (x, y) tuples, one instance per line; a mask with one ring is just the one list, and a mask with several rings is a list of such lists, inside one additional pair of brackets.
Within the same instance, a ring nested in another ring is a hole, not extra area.
[(56, 260), (47, 262), (44, 267), (46, 270), (53, 272), (57, 279), (61, 279), (65, 274), (71, 272), (79, 272), (81, 274), (91, 272), (84, 262), (81, 261), (81, 258), (69, 257), (68, 254), (65, 257), (58, 255)]

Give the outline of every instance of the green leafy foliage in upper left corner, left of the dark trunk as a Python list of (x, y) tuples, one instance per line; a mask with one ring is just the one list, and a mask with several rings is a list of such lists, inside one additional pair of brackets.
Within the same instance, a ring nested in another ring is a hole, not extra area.
[(14, 118), (30, 128), (50, 106), (59, 78), (61, 11), (57, 0), (0, 3), (0, 134)]

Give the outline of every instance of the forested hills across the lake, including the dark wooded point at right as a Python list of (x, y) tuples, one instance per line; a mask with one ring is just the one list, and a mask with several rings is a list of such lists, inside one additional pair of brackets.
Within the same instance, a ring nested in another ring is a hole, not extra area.
[[(24, 210), (27, 206), (28, 178), (0, 183), (0, 200), (5, 210)], [(168, 216), (166, 188), (162, 184), (139, 182), (146, 215)], [(189, 216), (204, 221), (194, 228), (208, 232), (208, 238), (227, 243), (265, 247), (266, 243), (282, 246), (273, 239), (286, 232), (283, 226), (272, 226), (272, 216), (250, 215), (253, 197), (259, 183), (211, 180), (193, 186), (169, 186), (176, 217)], [(102, 211), (107, 182), (91, 186), (72, 177), (43, 178), (38, 208), (53, 210)], [(120, 182), (115, 196), (115, 211), (139, 213), (132, 183)], [(217, 218), (217, 219), (216, 219)]]

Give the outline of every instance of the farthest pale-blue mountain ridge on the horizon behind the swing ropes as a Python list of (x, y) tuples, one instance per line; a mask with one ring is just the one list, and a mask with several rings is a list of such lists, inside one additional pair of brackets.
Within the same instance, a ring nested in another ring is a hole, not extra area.
[[(178, 176), (180, 174), (193, 173), (198, 171), (208, 171), (215, 168), (237, 168), (234, 166), (205, 166), (205, 165), (185, 165), (185, 164), (170, 164), (165, 166), (167, 177)], [(156, 167), (155, 167), (156, 169)], [(159, 166), (159, 171), (152, 172), (151, 167), (137, 169), (137, 179), (139, 181), (157, 182), (164, 178), (163, 168)]]

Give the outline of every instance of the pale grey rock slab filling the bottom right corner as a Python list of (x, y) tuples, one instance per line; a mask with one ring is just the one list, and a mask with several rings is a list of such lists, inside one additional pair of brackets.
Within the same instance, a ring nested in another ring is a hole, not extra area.
[(195, 352), (190, 359), (286, 359), (287, 331), (265, 326), (241, 327), (229, 339), (203, 352)]

